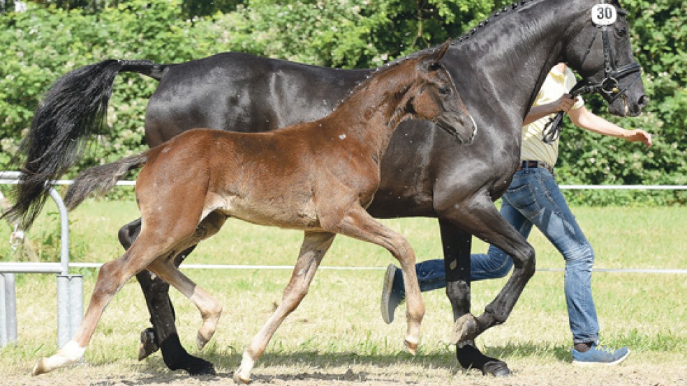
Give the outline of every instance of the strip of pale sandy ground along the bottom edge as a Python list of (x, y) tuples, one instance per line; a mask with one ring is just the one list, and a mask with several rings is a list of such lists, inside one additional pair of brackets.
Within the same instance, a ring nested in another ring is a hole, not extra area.
[[(160, 363), (161, 365), (161, 363)], [(482, 376), (445, 365), (432, 366), (412, 360), (378, 366), (350, 363), (317, 368), (309, 364), (257, 366), (252, 385), (687, 385), (687, 363), (642, 365), (630, 357), (617, 366), (581, 367), (566, 362), (540, 363), (511, 360), (508, 378)], [(167, 371), (158, 364), (79, 365), (43, 376), (10, 371), (2, 375), (3, 385), (232, 385), (232, 371), (218, 369), (218, 376), (186, 376)]]

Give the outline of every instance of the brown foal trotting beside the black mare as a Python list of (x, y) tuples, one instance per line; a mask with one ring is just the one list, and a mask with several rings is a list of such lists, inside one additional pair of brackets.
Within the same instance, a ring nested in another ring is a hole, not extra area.
[(105, 306), (141, 270), (154, 272), (198, 307), (202, 325), (197, 343), (202, 348), (214, 334), (222, 306), (179, 272), (171, 258), (214, 235), (228, 217), (304, 231), (283, 300), (246, 346), (235, 380), (250, 381), (253, 365), (306, 295), (337, 233), (381, 245), (398, 259), (407, 298), (405, 343), (415, 353), (424, 316), (415, 254), (403, 236), (365, 208), (380, 181), (379, 162), (401, 121), (426, 119), (457, 138), (474, 137), (475, 125), (439, 63), (448, 45), (378, 70), (318, 121), (260, 133), (191, 130), (140, 155), (80, 174), (66, 196), (71, 208), (145, 164), (136, 183), (142, 229), (121, 258), (101, 268), (74, 339), (52, 357), (38, 360), (34, 374), (81, 360)]

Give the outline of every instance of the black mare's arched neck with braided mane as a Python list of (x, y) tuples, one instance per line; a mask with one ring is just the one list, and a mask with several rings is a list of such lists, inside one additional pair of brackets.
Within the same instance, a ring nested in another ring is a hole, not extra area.
[(487, 102), (493, 114), (522, 122), (550, 68), (566, 61), (566, 43), (591, 22), (594, 3), (519, 1), (458, 38), (443, 62), (457, 71), (452, 77), (459, 89), (473, 89), (472, 98), (464, 98), (468, 109)]

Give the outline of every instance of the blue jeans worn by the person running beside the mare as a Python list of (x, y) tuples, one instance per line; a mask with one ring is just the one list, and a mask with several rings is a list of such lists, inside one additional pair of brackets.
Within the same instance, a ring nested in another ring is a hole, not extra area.
[[(523, 169), (515, 173), (503, 194), (501, 215), (522, 234), (529, 236), (532, 225), (549, 239), (566, 260), (565, 291), (570, 331), (573, 342), (598, 340), (598, 318), (591, 295), (591, 268), (594, 252), (579, 228), (575, 216), (552, 173), (546, 169)], [(471, 255), (471, 279), (505, 277), (513, 261), (501, 249), (489, 246), (487, 254)], [(443, 259), (423, 261), (415, 265), (421, 291), (446, 286)], [(400, 285), (400, 287), (399, 287)], [(400, 270), (394, 278), (394, 288), (402, 288)]]

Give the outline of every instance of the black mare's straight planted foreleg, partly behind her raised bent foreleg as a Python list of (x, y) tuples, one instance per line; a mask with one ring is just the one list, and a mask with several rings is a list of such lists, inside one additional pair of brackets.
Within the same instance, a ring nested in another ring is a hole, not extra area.
[[(446, 220), (439, 220), (446, 270), (446, 295), (453, 307), (453, 320), (470, 312), (470, 250), (472, 236)], [(479, 369), (485, 375), (509, 376), (508, 364), (487, 357), (468, 340), (456, 345), (458, 363), (464, 369)]]

